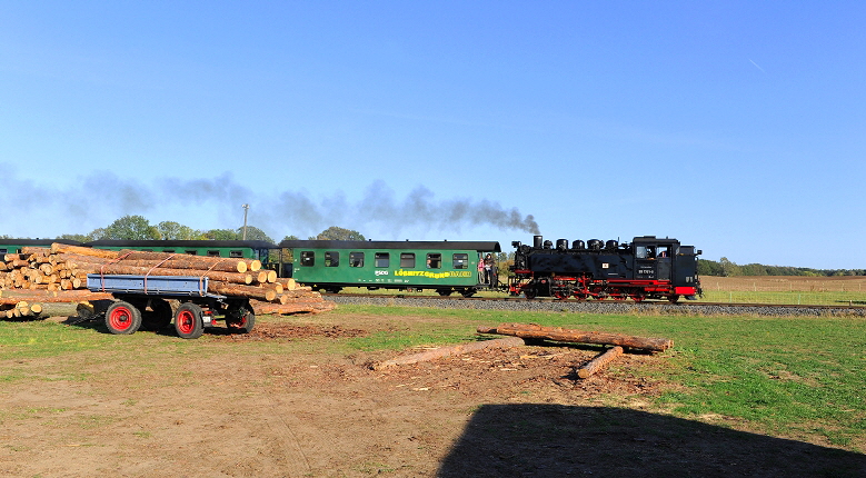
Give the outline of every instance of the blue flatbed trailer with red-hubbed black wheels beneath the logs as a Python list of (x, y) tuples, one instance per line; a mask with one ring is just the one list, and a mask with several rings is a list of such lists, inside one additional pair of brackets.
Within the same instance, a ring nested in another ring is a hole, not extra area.
[[(206, 327), (216, 327), (217, 320), (240, 333), (248, 333), (256, 323), (248, 298), (208, 292), (207, 277), (91, 273), (87, 287), (115, 297), (104, 312), (111, 333), (135, 333), (142, 322), (162, 328), (173, 320), (179, 337), (197, 339)], [(170, 300), (179, 302), (177, 308)]]

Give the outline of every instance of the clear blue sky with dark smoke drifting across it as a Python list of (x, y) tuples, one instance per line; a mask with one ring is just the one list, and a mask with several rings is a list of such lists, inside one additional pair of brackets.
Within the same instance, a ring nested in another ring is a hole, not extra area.
[[(0, 233), (866, 268), (866, 2), (0, 1)], [(531, 217), (530, 217), (531, 216)]]

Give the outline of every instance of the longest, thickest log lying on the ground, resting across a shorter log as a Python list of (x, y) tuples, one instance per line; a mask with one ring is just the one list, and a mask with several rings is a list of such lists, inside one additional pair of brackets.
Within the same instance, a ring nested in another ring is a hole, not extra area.
[(500, 323), (497, 327), (478, 327), (478, 333), (499, 333), (524, 339), (543, 339), (559, 342), (611, 345), (651, 351), (664, 351), (674, 347), (674, 341), (670, 339), (597, 331), (587, 332), (563, 329), (560, 327), (543, 327), (535, 323)]

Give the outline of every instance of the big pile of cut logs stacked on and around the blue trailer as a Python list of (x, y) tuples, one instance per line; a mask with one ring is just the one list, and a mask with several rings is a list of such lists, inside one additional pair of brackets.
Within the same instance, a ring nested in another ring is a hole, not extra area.
[(255, 259), (112, 251), (58, 242), (50, 248), (22, 248), (21, 253), (8, 253), (2, 259), (0, 289), (43, 290), (69, 296), (70, 301), (80, 300), (72, 296), (87, 295), (88, 273), (121, 273), (207, 277), (209, 292), (252, 299), (262, 305), (257, 313), (318, 312), (335, 307), (309, 287), (299, 287), (292, 279), (278, 280), (276, 271), (262, 269)]

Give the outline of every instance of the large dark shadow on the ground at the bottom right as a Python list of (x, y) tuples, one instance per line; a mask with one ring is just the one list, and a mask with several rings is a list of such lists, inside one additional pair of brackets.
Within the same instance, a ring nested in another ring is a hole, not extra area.
[(864, 477), (866, 455), (637, 410), (485, 405), (439, 477)]

